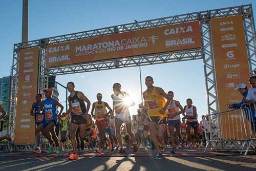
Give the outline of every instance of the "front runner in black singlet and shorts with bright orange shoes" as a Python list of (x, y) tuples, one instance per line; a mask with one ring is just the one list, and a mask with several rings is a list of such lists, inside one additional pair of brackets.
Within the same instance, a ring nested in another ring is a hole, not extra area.
[[(69, 159), (76, 160), (79, 158), (79, 156), (77, 155), (76, 131), (79, 126), (79, 134), (81, 140), (86, 139), (86, 137), (88, 136), (86, 133), (86, 115), (89, 115), (88, 112), (90, 109), (91, 102), (82, 92), (75, 91), (74, 82), (68, 82), (67, 87), (68, 91), (70, 92), (70, 96), (68, 97), (69, 109), (65, 114), (61, 115), (60, 117), (64, 117), (68, 114), (71, 114), (70, 134), (74, 153), (70, 155)], [(84, 103), (84, 101), (87, 103), (87, 106)], [(89, 132), (89, 135), (90, 134), (91, 131)]]

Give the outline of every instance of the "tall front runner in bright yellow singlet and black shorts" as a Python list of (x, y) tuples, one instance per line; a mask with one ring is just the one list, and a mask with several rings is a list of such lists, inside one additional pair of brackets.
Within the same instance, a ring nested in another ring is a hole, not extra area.
[[(165, 108), (165, 99), (168, 99), (168, 95), (159, 87), (154, 87), (154, 80), (151, 76), (145, 78), (145, 84), (147, 90), (143, 92), (143, 98), (145, 101), (145, 108), (148, 109), (147, 114), (149, 116), (149, 128), (151, 139), (155, 144), (157, 150), (156, 159), (162, 158), (159, 145), (163, 139), (164, 134), (164, 120), (166, 120), (167, 112)], [(157, 129), (158, 127), (158, 129)], [(157, 139), (159, 137), (159, 140)]]

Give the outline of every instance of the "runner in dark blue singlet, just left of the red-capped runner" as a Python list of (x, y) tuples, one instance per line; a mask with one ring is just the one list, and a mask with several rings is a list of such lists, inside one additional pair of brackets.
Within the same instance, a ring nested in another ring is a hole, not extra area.
[(35, 117), (36, 129), (35, 129), (35, 137), (36, 137), (36, 148), (33, 150), (34, 153), (41, 153), (40, 149), (40, 132), (44, 134), (44, 121), (45, 121), (45, 113), (44, 103), (42, 103), (42, 95), (37, 94), (35, 96), (36, 102), (32, 104), (32, 108), (30, 110), (30, 115)]

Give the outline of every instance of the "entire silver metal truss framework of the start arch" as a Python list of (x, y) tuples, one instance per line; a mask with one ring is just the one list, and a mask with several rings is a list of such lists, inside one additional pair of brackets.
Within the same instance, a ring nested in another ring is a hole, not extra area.
[[(216, 89), (216, 78), (214, 68), (214, 56), (212, 51), (210, 19), (218, 17), (227, 17), (234, 15), (243, 15), (244, 27), (246, 34), (247, 50), (249, 56), (250, 72), (255, 71), (255, 28), (253, 23), (252, 6), (243, 5), (236, 7), (228, 7), (222, 9), (208, 10), (202, 12), (187, 13), (182, 15), (163, 17), (142, 22), (129, 23), (106, 27), (101, 29), (89, 30), (79, 33), (66, 34), (61, 36), (49, 37), (44, 39), (32, 40), (24, 43), (14, 44), (13, 65), (12, 65), (12, 82), (10, 95), (10, 127), (9, 133), (14, 134), (15, 129), (15, 113), (16, 113), (16, 97), (17, 97), (17, 76), (18, 76), (18, 53), (20, 49), (38, 47), (40, 49), (40, 62), (38, 74), (38, 92), (47, 87), (47, 79), (50, 75), (63, 75), (81, 72), (91, 72), (99, 70), (109, 70), (125, 67), (137, 67), (144, 65), (154, 65), (158, 63), (167, 63), (184, 60), (194, 60), (203, 58), (205, 84), (207, 91), (207, 105), (208, 114), (216, 113), (218, 111), (218, 97)], [(109, 60), (101, 60), (95, 62), (78, 63), (76, 65), (59, 66), (53, 68), (46, 68), (46, 47), (51, 44), (58, 44), (60, 42), (74, 41), (84, 38), (91, 38), (96, 36), (103, 36), (121, 32), (129, 32), (135, 30), (143, 30), (148, 28), (155, 28), (161, 26), (168, 26), (174, 24), (181, 24), (193, 21), (200, 21), (202, 48), (193, 50), (184, 50), (177, 52), (165, 52), (151, 55), (141, 55), (126, 58), (116, 58)], [(217, 123), (217, 119), (213, 119), (212, 123)]]

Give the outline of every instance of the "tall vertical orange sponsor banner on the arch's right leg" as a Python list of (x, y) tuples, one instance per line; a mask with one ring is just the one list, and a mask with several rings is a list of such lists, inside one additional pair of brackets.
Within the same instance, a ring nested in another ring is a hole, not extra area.
[[(241, 15), (211, 20), (219, 112), (228, 111), (227, 104), (241, 102), (243, 96), (234, 90), (238, 83), (244, 82), (249, 87), (250, 72), (243, 26)], [(221, 117), (222, 138), (245, 138), (244, 129), (237, 127), (243, 125), (241, 113), (237, 113), (237, 117), (229, 115)], [(225, 129), (227, 127), (232, 131)]]

